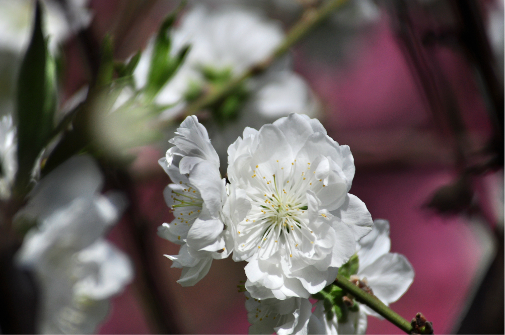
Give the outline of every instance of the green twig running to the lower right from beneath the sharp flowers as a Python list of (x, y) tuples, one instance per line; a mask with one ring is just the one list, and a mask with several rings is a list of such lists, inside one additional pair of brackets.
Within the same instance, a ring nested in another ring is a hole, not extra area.
[(347, 291), (347, 293), (354, 296), (358, 302), (367, 305), (401, 330), (405, 331), (408, 334), (413, 333), (414, 328), (409, 321), (393, 312), (373, 294), (367, 293), (355, 284), (349, 282), (349, 280), (343, 275), (337, 274), (337, 278), (333, 284), (342, 290)]

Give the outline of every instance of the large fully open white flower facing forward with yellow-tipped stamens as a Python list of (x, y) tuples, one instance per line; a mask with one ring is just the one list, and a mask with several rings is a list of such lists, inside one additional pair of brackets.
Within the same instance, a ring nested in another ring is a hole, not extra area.
[(307, 116), (246, 128), (230, 145), (226, 211), (252, 297), (309, 298), (334, 281), (372, 226), (347, 193), (354, 172), (349, 147)]

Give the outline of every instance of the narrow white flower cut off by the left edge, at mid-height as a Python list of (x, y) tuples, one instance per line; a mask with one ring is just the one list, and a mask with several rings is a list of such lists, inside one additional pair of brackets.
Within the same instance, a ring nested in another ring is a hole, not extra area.
[(12, 116), (0, 120), (0, 200), (11, 196), (11, 188), (18, 170), (16, 127)]

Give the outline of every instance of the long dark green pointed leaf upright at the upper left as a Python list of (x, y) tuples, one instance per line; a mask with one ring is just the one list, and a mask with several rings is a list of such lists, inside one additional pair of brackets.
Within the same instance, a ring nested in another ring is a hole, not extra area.
[(42, 33), (42, 9), (37, 2), (33, 33), (21, 64), (17, 87), (18, 174), (15, 192), (24, 194), (35, 160), (54, 128), (57, 106), (56, 63)]

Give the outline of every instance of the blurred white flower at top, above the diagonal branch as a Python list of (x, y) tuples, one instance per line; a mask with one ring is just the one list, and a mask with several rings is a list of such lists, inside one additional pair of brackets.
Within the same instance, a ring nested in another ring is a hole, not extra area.
[[(158, 94), (160, 104), (181, 102), (192, 83), (205, 81), (201, 70), (211, 67), (215, 70), (230, 70), (239, 75), (248, 67), (265, 59), (282, 41), (284, 34), (280, 25), (274, 21), (249, 11), (226, 9), (209, 11), (197, 6), (181, 20), (179, 27), (172, 30), (173, 55), (186, 45), (191, 48), (176, 75)], [(138, 87), (145, 86), (153, 52), (154, 38), (135, 69), (134, 76)], [(180, 110), (181, 105), (177, 107)], [(170, 118), (173, 110), (165, 112)]]

